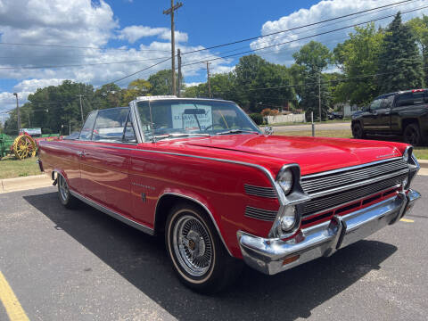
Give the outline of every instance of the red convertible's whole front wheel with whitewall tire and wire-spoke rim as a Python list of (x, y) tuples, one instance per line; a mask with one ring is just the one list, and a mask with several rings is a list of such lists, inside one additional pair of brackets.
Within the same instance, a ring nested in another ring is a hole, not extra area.
[(180, 281), (194, 291), (221, 291), (239, 273), (241, 262), (227, 253), (207, 214), (191, 203), (170, 210), (165, 243)]

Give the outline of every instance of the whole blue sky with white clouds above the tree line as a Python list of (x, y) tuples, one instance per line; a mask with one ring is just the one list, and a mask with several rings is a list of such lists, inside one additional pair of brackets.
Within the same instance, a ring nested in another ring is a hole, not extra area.
[[(184, 5), (177, 12), (176, 48), (186, 52), (324, 21), (399, 0), (182, 2)], [(313, 39), (333, 49), (352, 29), (305, 40), (301, 37), (395, 14), (399, 10), (418, 9), (424, 4), (424, 0), (411, 0), (334, 23), (187, 54), (183, 56), (184, 64), (198, 63), (183, 69), (185, 82), (192, 85), (205, 81), (206, 70), (200, 63), (202, 61), (267, 45), (276, 46), (258, 51), (259, 55), (269, 62), (289, 66), (293, 62), (292, 53), (301, 45)], [(169, 0), (1, 0), (0, 43), (57, 46), (0, 45), (0, 114), (13, 108), (13, 92), (19, 94), (20, 103), (25, 103), (27, 96), (37, 88), (58, 85), (64, 79), (97, 87), (161, 62), (163, 57), (170, 55), (170, 21), (169, 16), (162, 13), (169, 5)], [(409, 12), (403, 15), (403, 20), (423, 12), (426, 14), (427, 9)], [(386, 26), (390, 21), (385, 19), (376, 25)], [(292, 43), (283, 44), (287, 41)], [(211, 63), (211, 72), (233, 70), (238, 59), (239, 56), (217, 59)], [(29, 69), (40, 66), (45, 68)], [(170, 62), (163, 62), (119, 81), (118, 85), (128, 86), (128, 82), (135, 78), (148, 78), (156, 71), (169, 68)]]

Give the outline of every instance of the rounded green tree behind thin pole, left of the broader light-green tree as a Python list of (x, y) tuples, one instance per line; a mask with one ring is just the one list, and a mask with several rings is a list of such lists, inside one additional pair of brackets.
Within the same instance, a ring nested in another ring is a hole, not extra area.
[[(306, 111), (307, 118), (313, 111), (314, 118), (325, 119), (331, 96), (329, 86), (318, 86), (318, 83), (326, 82), (322, 71), (331, 62), (330, 50), (319, 42), (310, 41), (292, 56), (296, 64), (303, 67), (301, 69), (303, 84), (300, 86), (300, 106)], [(321, 115), (319, 114), (319, 96), (321, 96)]]

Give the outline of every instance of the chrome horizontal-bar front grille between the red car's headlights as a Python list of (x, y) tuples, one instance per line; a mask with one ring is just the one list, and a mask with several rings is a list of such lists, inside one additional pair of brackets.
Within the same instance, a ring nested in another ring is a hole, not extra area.
[(407, 175), (407, 163), (400, 158), (301, 177), (301, 185), (311, 197), (302, 207), (302, 217), (398, 186)]

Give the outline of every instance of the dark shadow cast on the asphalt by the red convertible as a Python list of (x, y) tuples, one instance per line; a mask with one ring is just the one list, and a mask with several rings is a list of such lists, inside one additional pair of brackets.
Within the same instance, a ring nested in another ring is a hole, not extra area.
[(163, 238), (144, 235), (82, 204), (65, 210), (56, 193), (24, 199), (116, 270), (128, 282), (166, 309), (186, 320), (295, 319), (342, 292), (373, 269), (397, 248), (376, 241), (361, 241), (331, 258), (317, 259), (276, 276), (244, 268), (236, 284), (216, 296), (203, 296), (179, 283)]

